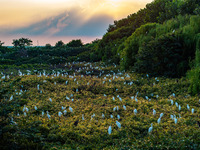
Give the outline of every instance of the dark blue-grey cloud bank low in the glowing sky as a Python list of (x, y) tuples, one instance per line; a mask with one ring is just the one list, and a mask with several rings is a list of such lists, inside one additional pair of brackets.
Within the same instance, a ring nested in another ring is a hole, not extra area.
[(84, 12), (72, 9), (57, 16), (49, 17), (27, 27), (18, 28), (6, 33), (32, 36), (102, 36), (113, 18), (108, 15), (93, 15), (85, 20)]

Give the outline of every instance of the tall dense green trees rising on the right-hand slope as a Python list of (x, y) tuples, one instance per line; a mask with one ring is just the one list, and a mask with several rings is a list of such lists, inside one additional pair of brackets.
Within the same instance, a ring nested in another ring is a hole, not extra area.
[(154, 0), (109, 25), (95, 53), (100, 60), (120, 64), (122, 70), (183, 76), (195, 56), (199, 10), (199, 0)]

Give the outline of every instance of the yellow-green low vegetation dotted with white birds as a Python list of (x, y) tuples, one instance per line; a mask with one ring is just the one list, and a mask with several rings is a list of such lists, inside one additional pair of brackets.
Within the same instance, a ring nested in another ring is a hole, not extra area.
[(187, 79), (65, 67), (2, 71), (0, 149), (200, 149), (200, 101)]

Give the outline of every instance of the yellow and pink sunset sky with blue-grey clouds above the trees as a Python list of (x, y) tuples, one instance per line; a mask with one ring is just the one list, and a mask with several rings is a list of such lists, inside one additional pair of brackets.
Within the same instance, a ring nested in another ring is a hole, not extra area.
[(0, 41), (30, 38), (33, 45), (101, 39), (109, 24), (152, 0), (0, 0)]

